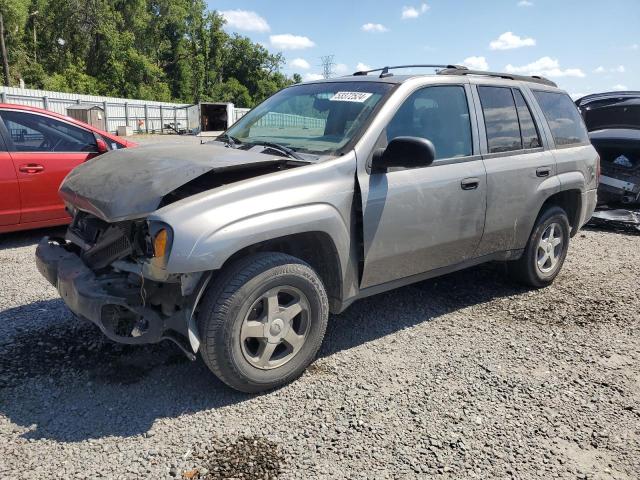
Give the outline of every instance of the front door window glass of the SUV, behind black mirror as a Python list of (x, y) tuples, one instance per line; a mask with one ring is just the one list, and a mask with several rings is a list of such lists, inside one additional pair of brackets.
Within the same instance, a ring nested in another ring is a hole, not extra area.
[(396, 137), (430, 140), (436, 160), (472, 155), (471, 121), (464, 87), (426, 87), (411, 94), (387, 125), (387, 142)]

